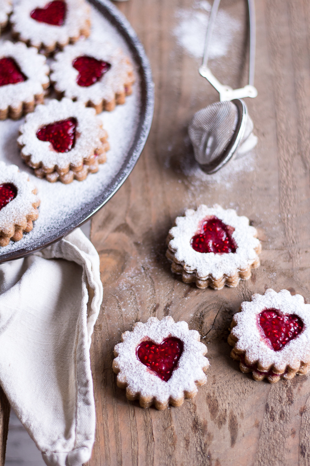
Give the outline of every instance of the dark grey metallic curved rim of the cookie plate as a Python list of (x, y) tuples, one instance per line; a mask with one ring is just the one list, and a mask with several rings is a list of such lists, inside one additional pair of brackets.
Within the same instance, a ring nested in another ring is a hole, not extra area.
[(71, 220), (69, 224), (60, 228), (57, 233), (45, 235), (42, 239), (36, 241), (32, 245), (0, 255), (0, 263), (26, 257), (27, 255), (33, 254), (44, 247), (50, 246), (54, 242), (61, 240), (75, 228), (83, 225), (87, 220), (91, 219), (92, 216), (98, 212), (109, 199), (112, 198), (115, 192), (118, 191), (129, 176), (139, 159), (149, 135), (154, 113), (155, 95), (151, 65), (145, 54), (144, 47), (124, 14), (122, 14), (109, 0), (88, 0), (88, 2), (92, 4), (100, 14), (103, 14), (113, 27), (116, 27), (130, 49), (137, 66), (141, 91), (139, 107), (140, 117), (139, 124), (132, 141), (132, 146), (127, 152), (127, 156), (118, 173), (112, 178), (104, 192), (101, 192), (92, 200), (92, 202), (89, 202), (81, 212), (75, 215), (74, 219)]

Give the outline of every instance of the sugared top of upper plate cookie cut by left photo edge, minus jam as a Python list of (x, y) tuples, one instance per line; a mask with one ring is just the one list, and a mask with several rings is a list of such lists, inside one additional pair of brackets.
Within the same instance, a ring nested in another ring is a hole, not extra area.
[(41, 95), (42, 86), (49, 82), (46, 58), (36, 48), (26, 47), (23, 42), (4, 41), (0, 44), (0, 59), (5, 57), (13, 58), (27, 79), (0, 86), (0, 110), (6, 110), (9, 105), (16, 107), (20, 102), (33, 102), (34, 96)]

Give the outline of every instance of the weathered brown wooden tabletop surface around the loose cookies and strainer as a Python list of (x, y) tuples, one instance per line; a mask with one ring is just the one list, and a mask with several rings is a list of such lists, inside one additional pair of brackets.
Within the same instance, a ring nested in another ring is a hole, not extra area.
[[(310, 2), (256, 2), (258, 96), (247, 104), (259, 144), (254, 155), (210, 178), (195, 168), (187, 126), (218, 96), (172, 34), (180, 10), (198, 11), (198, 4), (118, 6), (150, 58), (156, 108), (139, 162), (92, 221), (104, 302), (92, 337), (97, 431), (88, 466), (309, 465), (310, 380), (255, 382), (231, 360), (226, 339), (232, 315), (253, 293), (288, 288), (310, 300)], [(244, 1), (223, 0), (221, 8), (244, 24)], [(246, 79), (245, 28), (234, 40), (212, 67), (239, 86)], [(167, 232), (177, 215), (201, 202), (236, 208), (259, 231), (261, 267), (237, 288), (199, 290), (170, 272)], [(165, 411), (127, 401), (111, 368), (122, 332), (151, 315), (197, 329), (211, 363), (197, 397)]]

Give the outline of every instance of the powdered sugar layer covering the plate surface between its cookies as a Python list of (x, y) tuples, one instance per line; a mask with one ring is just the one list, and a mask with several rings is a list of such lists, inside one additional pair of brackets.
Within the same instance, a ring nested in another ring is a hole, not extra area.
[[(95, 8), (91, 8), (91, 36), (96, 40), (109, 41), (115, 47), (122, 48), (125, 55), (128, 55), (134, 63), (131, 52), (117, 30)], [(0, 43), (2, 41), (3, 39)], [(22, 240), (16, 243), (11, 241), (8, 246), (1, 247), (0, 257), (1, 254), (16, 251), (30, 244), (40, 245), (46, 237), (57, 234), (67, 218), (73, 218), (85, 205), (90, 204), (117, 175), (132, 145), (139, 123), (140, 89), (139, 76), (135, 69), (134, 74), (136, 82), (133, 85), (132, 95), (126, 97), (126, 103), (117, 105), (112, 112), (105, 111), (98, 116), (108, 133), (111, 149), (107, 152), (106, 163), (99, 165), (99, 171), (89, 174), (84, 181), (74, 180), (70, 185), (64, 185), (59, 181), (52, 184), (45, 179), (36, 178), (33, 169), (27, 167), (22, 161), (17, 145), (19, 127), (25, 119), (18, 121), (8, 119), (0, 122), (0, 160), (6, 164), (18, 165), (21, 171), (26, 171), (37, 186), (38, 197), (41, 199), (40, 215), (34, 224), (33, 231), (24, 234)]]

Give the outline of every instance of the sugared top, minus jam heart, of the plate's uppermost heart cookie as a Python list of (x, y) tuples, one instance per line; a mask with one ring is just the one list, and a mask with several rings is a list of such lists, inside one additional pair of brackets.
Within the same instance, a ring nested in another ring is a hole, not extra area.
[(85, 0), (65, 0), (66, 16), (62, 26), (54, 26), (34, 20), (30, 14), (36, 8), (44, 8), (49, 0), (22, 0), (14, 6), (11, 22), (13, 30), (22, 41), (31, 41), (34, 47), (53, 47), (56, 42), (66, 44), (71, 37), (79, 37), (80, 31), (90, 18)]

